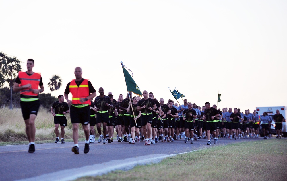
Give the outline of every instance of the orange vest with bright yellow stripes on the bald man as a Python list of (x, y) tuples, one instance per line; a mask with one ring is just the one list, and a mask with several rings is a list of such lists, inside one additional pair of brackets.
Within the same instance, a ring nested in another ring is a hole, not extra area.
[(87, 100), (85, 102), (80, 102), (81, 98), (86, 98), (90, 95), (88, 80), (84, 79), (84, 81), (79, 85), (76, 84), (75, 79), (71, 81), (69, 85), (69, 90), (73, 95), (72, 104), (89, 104), (91, 105), (91, 101)]

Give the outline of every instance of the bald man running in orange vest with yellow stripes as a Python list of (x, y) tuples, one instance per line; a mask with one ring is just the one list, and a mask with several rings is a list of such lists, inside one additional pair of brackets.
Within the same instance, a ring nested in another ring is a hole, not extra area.
[[(86, 140), (85, 140), (85, 148), (84, 153), (88, 153), (89, 148), (89, 121), (90, 121), (90, 99), (94, 98), (96, 94), (96, 90), (92, 86), (92, 83), (87, 79), (82, 78), (82, 69), (80, 67), (75, 68), (75, 77), (76, 79), (72, 80), (67, 84), (65, 89), (65, 99), (67, 100), (70, 107), (70, 116), (71, 123), (73, 124), (73, 140), (75, 146), (72, 148), (72, 152), (75, 154), (79, 154), (79, 124), (82, 124)], [(72, 93), (73, 98), (69, 100), (68, 94)]]

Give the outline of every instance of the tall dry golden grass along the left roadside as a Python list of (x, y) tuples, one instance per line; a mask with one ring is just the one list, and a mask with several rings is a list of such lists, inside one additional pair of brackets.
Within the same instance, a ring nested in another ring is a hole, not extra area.
[[(67, 127), (65, 128), (65, 139), (72, 139), (72, 124), (70, 114), (67, 115)], [(54, 118), (49, 110), (40, 108), (35, 120), (36, 141), (54, 140), (55, 126)], [(61, 129), (59, 128), (61, 133)], [(97, 133), (97, 132), (96, 132)], [(98, 136), (98, 135), (96, 135)], [(84, 138), (82, 126), (79, 128), (79, 138)], [(28, 141), (25, 132), (25, 123), (21, 109), (0, 109), (0, 142)]]

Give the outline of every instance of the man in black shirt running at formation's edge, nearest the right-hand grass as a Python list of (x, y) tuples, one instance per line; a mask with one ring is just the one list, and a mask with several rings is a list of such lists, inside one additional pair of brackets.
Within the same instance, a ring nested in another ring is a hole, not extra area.
[(216, 144), (216, 117), (219, 116), (217, 109), (210, 107), (209, 102), (205, 102), (204, 117), (206, 119), (206, 136), (208, 139), (207, 145), (211, 145), (210, 131), (213, 133), (213, 141)]

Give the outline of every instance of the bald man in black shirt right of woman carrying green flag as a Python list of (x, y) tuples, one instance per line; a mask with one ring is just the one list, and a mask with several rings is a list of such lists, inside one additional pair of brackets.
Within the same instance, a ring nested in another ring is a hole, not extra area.
[(156, 109), (156, 103), (151, 98), (148, 98), (148, 92), (143, 92), (143, 99), (137, 104), (137, 111), (141, 112), (141, 125), (143, 126), (144, 137), (146, 139), (144, 145), (150, 145), (151, 125), (152, 125), (152, 110)]

